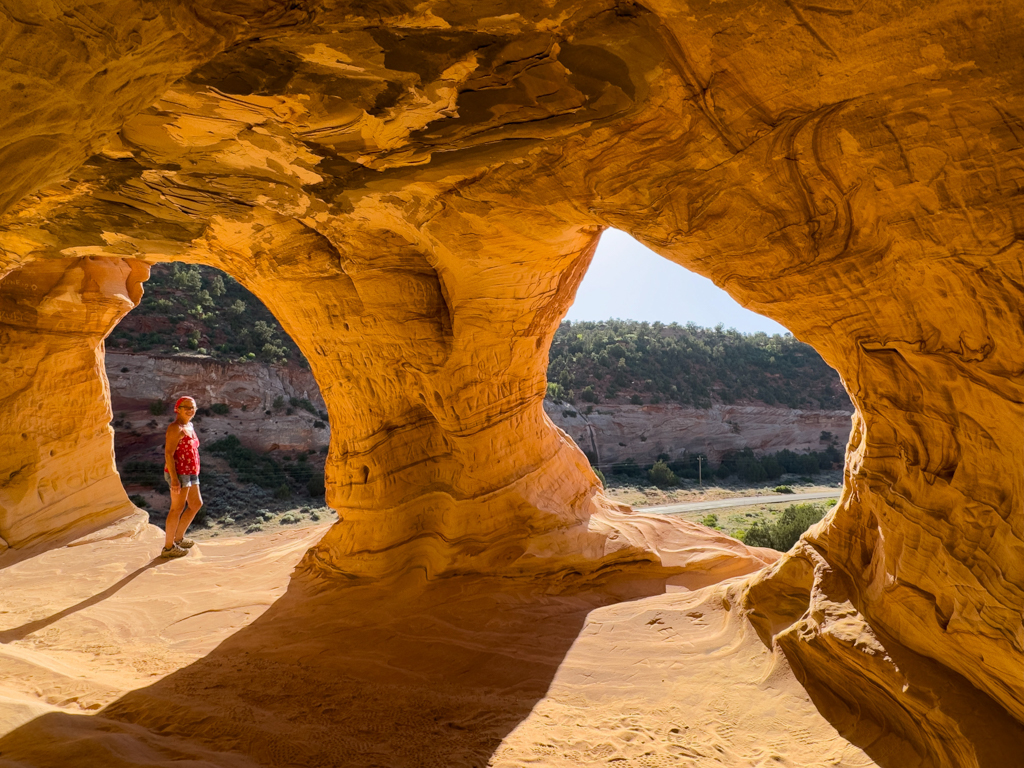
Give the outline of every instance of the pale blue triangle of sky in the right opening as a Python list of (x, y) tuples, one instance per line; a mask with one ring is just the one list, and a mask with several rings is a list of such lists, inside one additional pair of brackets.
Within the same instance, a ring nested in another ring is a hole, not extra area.
[(658, 256), (617, 229), (601, 236), (597, 253), (565, 319), (609, 317), (653, 323), (719, 323), (742, 333), (787, 333), (767, 317), (744, 309), (707, 278)]

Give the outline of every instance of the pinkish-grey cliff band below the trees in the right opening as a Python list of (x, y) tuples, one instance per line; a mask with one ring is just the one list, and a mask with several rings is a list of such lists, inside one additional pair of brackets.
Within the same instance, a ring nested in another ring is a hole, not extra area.
[(715, 404), (710, 409), (659, 406), (574, 406), (544, 401), (548, 417), (598, 468), (633, 459), (651, 464), (662, 454), (705, 454), (717, 463), (730, 451), (820, 451), (822, 432), (845, 441), (853, 411), (801, 411), (780, 406)]

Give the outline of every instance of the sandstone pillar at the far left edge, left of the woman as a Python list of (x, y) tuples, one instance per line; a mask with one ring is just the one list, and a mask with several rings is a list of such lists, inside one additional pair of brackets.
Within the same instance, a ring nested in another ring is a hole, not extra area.
[(0, 282), (0, 538), (26, 547), (130, 514), (103, 339), (142, 295), (135, 260), (33, 262)]

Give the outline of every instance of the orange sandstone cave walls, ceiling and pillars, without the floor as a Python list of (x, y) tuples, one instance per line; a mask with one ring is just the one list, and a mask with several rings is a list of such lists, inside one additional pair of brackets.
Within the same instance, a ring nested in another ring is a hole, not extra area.
[[(331, 415), (343, 521), (305, 572), (677, 572), (687, 534), (613, 534), (541, 402), (614, 226), (814, 345), (857, 410), (837, 510), (745, 592), (761, 639), (873, 759), (1019, 759), (1019, 3), (15, 6), (5, 301), (48, 306), (32, 274), (81, 259), (256, 293)], [(54, 294), (75, 344), (5, 305), (15, 548), (128, 509), (97, 352), (134, 299), (82, 281)]]

